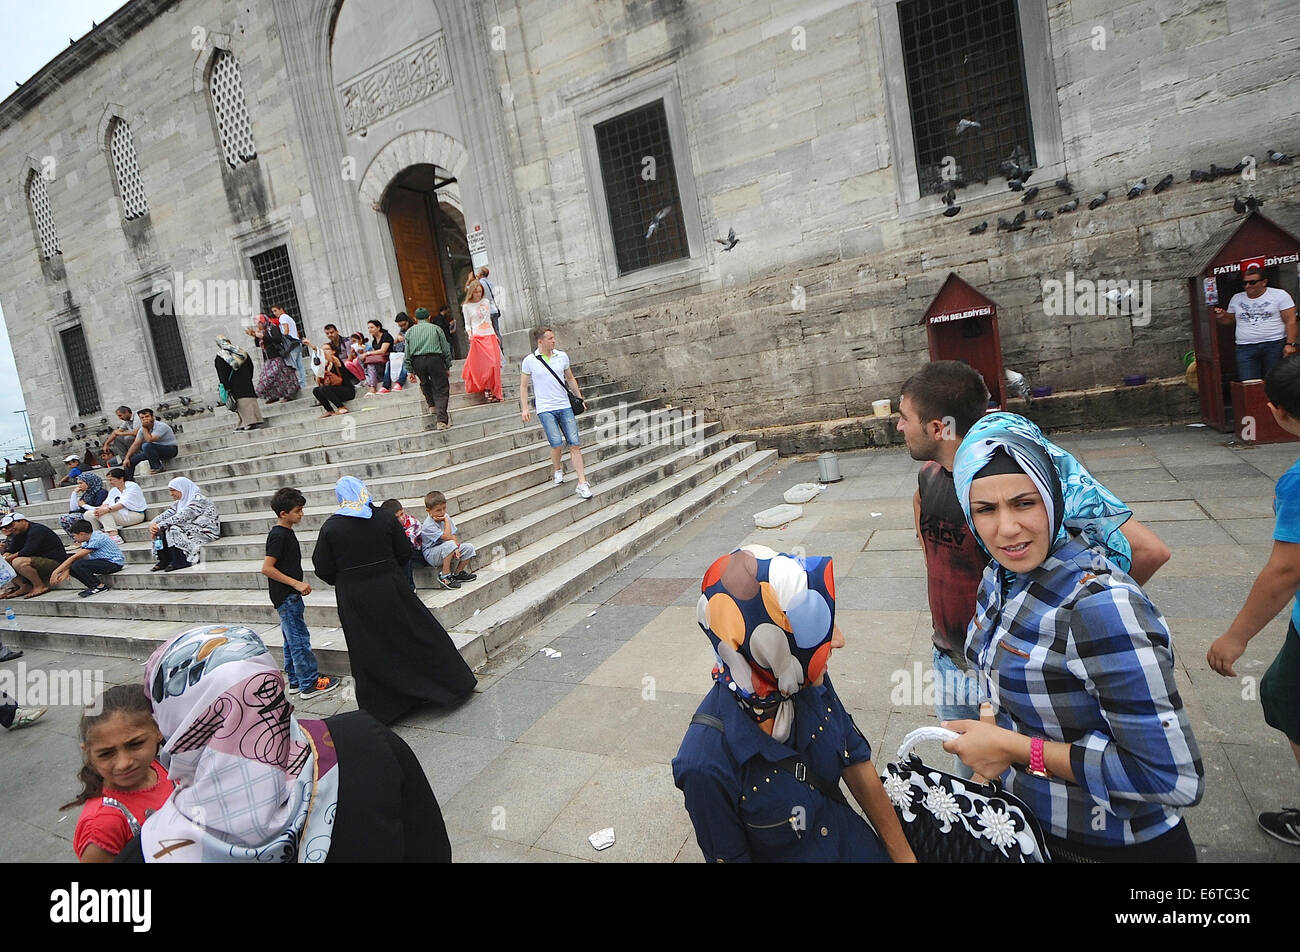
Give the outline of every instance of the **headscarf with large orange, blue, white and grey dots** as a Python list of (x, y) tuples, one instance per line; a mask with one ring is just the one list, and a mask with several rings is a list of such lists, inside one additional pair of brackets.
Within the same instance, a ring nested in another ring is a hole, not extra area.
[(790, 696), (820, 678), (831, 657), (831, 559), (748, 545), (714, 562), (699, 589), (697, 620), (718, 658), (714, 679), (785, 743), (794, 721)]

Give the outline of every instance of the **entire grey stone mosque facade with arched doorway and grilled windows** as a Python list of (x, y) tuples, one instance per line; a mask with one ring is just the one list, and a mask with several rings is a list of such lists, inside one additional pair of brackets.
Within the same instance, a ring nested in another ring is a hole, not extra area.
[[(896, 397), (950, 273), (1035, 382), (1174, 376), (1234, 198), (1295, 212), (1297, 48), (1287, 0), (131, 0), (0, 103), (0, 304), (38, 443), (211, 401), (273, 303), (346, 334), (482, 263), (507, 355), (551, 324), (732, 427)], [(1048, 313), (1067, 271), (1145, 312)]]

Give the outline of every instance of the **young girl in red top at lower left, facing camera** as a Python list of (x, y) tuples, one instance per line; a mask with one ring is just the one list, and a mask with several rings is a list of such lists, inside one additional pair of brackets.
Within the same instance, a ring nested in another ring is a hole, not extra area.
[(82, 714), (81, 741), (82, 792), (60, 809), (84, 804), (73, 834), (77, 858), (112, 862), (139, 835), (144, 818), (172, 796), (172, 780), (156, 760), (162, 734), (144, 688), (122, 684), (105, 691), (99, 713)]

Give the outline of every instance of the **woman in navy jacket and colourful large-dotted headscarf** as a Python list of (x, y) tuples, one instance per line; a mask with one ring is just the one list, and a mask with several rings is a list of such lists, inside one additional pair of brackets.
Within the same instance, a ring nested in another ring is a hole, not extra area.
[(915, 862), (871, 747), (827, 675), (844, 646), (831, 559), (749, 545), (714, 562), (701, 590), (714, 688), (672, 775), (705, 861)]

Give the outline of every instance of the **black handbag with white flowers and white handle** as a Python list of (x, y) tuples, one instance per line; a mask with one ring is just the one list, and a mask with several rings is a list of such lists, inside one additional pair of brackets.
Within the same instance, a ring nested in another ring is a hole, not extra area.
[(1050, 862), (1039, 821), (1022, 800), (997, 780), (978, 784), (928, 767), (914, 750), (956, 736), (942, 727), (913, 731), (880, 778), (916, 861)]

